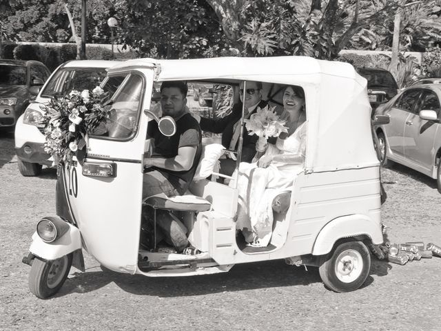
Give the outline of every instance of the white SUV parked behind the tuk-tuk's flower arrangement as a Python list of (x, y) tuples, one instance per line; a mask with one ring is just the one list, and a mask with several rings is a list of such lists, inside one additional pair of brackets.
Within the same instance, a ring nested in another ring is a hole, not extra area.
[(44, 151), (41, 103), (48, 102), (51, 97), (64, 97), (72, 90), (81, 91), (99, 86), (105, 77), (106, 68), (117, 63), (121, 61), (68, 61), (52, 73), (35, 101), (19, 117), (15, 128), (15, 152), (23, 176), (38, 176), (42, 165), (52, 165), (50, 155)]

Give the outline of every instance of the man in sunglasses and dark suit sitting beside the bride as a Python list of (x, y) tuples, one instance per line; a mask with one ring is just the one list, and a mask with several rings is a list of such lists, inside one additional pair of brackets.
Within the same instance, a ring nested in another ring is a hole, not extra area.
[[(240, 103), (234, 105), (231, 114), (222, 119), (195, 118), (199, 121), (201, 129), (207, 132), (222, 133), (222, 145), (229, 150), (237, 150), (240, 136), (240, 117), (242, 117), (242, 105), (245, 106), (245, 119), (256, 112), (258, 107), (264, 108), (267, 102), (262, 100), (262, 83), (260, 81), (247, 81), (247, 90), (243, 90), (243, 82), (240, 83)], [(245, 92), (245, 93), (244, 93)], [(256, 154), (256, 134), (250, 136), (247, 130), (243, 130), (243, 148), (240, 161), (251, 162)], [(234, 159), (220, 159), (220, 173), (229, 176), (234, 172), (236, 161)]]

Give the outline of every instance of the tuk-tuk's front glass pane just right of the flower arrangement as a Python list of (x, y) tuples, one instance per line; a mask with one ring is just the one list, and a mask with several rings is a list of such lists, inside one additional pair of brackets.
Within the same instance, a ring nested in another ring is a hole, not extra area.
[(131, 137), (139, 120), (143, 79), (138, 74), (112, 76), (105, 81), (103, 90), (108, 93), (110, 111), (93, 134), (116, 139)]

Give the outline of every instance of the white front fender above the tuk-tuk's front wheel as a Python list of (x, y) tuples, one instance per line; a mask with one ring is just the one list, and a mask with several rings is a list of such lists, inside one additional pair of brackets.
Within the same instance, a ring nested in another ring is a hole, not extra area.
[(37, 257), (45, 260), (55, 260), (75, 250), (81, 250), (81, 234), (80, 230), (74, 225), (69, 225), (69, 230), (59, 239), (52, 243), (45, 243), (37, 232), (32, 234), (32, 243), (30, 244), (30, 252)]

